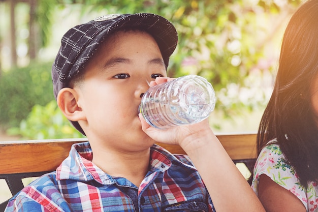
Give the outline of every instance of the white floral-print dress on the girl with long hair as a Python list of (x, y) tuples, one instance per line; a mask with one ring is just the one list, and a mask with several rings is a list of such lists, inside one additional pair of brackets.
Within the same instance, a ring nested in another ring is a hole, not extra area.
[(307, 190), (301, 186), (297, 173), (293, 167), (285, 163), (278, 144), (270, 142), (264, 147), (254, 167), (252, 189), (258, 195), (259, 176), (266, 174), (275, 183), (292, 192), (306, 207), (307, 211), (318, 212), (318, 185), (314, 182), (308, 184)]

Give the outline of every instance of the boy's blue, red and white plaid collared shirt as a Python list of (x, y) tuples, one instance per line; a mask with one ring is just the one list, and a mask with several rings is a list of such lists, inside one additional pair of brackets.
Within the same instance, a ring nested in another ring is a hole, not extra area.
[(26, 186), (5, 211), (215, 211), (187, 156), (157, 145), (150, 155), (149, 171), (137, 188), (94, 165), (88, 142), (74, 144), (56, 171)]

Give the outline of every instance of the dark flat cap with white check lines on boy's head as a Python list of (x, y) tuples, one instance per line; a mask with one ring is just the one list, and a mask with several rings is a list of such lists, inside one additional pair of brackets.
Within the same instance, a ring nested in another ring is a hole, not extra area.
[[(71, 28), (62, 37), (60, 49), (52, 66), (55, 99), (59, 90), (67, 87), (70, 80), (83, 70), (88, 60), (108, 35), (118, 29), (134, 27), (146, 31), (155, 39), (165, 65), (168, 67), (169, 57), (178, 43), (177, 31), (170, 21), (149, 13), (101, 16)], [(72, 122), (72, 124), (84, 134), (77, 122)]]

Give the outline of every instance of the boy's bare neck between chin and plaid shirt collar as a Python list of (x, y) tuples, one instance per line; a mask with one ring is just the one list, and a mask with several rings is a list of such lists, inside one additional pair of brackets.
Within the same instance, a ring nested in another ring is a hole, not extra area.
[(92, 162), (113, 177), (124, 177), (139, 187), (149, 170), (150, 149), (138, 153), (118, 153), (93, 149)]

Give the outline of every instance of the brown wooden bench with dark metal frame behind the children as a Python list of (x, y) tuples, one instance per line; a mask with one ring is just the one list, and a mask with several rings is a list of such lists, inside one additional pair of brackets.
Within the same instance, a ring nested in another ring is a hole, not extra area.
[[(251, 172), (256, 161), (256, 134), (217, 135), (234, 163), (244, 163)], [(23, 189), (22, 179), (53, 171), (69, 155), (71, 145), (83, 139), (19, 140), (0, 142), (0, 179), (12, 195)], [(171, 153), (185, 154), (180, 146), (159, 144)], [(44, 154), (45, 153), (45, 154)], [(8, 200), (0, 204), (4, 211)]]

